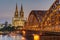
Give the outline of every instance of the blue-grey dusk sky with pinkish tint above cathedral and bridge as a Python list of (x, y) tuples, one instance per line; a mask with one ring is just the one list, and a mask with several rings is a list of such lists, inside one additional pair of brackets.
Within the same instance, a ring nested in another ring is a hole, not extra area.
[(0, 0), (0, 23), (12, 23), (16, 3), (20, 12), (23, 5), (24, 16), (28, 18), (32, 10), (48, 10), (55, 0)]

